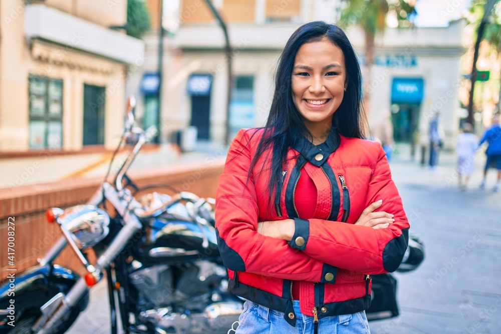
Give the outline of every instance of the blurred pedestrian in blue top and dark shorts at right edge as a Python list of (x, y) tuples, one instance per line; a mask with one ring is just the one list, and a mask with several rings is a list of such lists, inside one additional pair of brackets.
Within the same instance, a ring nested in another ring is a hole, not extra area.
[(485, 130), (478, 147), (484, 142), (487, 142), (487, 160), (485, 161), (485, 168), (483, 169), (483, 179), (480, 183), (480, 188), (485, 188), (485, 180), (487, 178), (487, 169), (493, 166), (497, 170), (497, 179), (493, 190), (499, 190), (499, 180), (501, 180), (501, 126), (499, 126), (499, 114), (492, 117), (492, 125)]

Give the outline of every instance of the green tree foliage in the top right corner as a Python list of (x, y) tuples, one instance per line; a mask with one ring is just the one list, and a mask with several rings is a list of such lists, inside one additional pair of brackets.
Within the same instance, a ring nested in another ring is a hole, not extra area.
[[(469, 8), (468, 24), (478, 29), (483, 17), (486, 0), (472, 0)], [(501, 52), (501, 3), (497, 2), (483, 32), (482, 39), (487, 41), (498, 53)]]

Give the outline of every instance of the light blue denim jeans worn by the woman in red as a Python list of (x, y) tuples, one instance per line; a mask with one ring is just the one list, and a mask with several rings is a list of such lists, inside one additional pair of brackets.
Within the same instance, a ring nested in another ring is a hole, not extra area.
[[(235, 334), (313, 333), (313, 315), (302, 314), (298, 300), (294, 300), (294, 311), (297, 316), (296, 327), (284, 319), (284, 313), (247, 300), (243, 304), (243, 312), (238, 319), (240, 324)], [(370, 334), (365, 311), (322, 317), (319, 319), (318, 332), (319, 334)]]

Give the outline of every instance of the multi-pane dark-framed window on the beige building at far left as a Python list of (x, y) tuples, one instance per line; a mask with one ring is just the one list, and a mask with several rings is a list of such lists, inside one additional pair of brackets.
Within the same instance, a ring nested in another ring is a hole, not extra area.
[(30, 148), (61, 148), (63, 143), (63, 81), (29, 77)]

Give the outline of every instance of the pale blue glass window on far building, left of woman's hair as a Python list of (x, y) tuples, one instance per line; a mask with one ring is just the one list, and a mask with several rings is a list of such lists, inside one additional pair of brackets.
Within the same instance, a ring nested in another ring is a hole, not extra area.
[(231, 103), (229, 105), (230, 136), (241, 128), (256, 126), (254, 117), (254, 77), (237, 76), (233, 81)]

